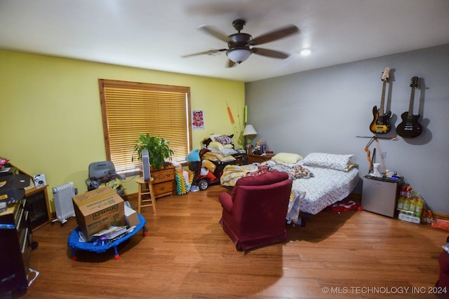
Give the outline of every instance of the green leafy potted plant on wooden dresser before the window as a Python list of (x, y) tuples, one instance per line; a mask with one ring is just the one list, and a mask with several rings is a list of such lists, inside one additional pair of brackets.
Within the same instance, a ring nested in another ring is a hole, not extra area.
[[(147, 134), (140, 134), (138, 140), (135, 141), (134, 154), (137, 153), (138, 159), (142, 160), (142, 151), (146, 148), (149, 154), (149, 162), (154, 169), (161, 169), (166, 167), (166, 159), (171, 160), (174, 151), (168, 146), (169, 142), (166, 139), (150, 136)], [(132, 160), (134, 161), (134, 155)]]

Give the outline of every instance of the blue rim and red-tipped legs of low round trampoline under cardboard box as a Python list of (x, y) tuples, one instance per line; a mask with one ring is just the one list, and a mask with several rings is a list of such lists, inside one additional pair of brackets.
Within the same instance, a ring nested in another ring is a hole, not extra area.
[(114, 249), (114, 259), (118, 260), (120, 258), (119, 252), (117, 251), (117, 246), (121, 244), (122, 242), (125, 242), (130, 237), (133, 237), (133, 235), (137, 234), (137, 232), (142, 228), (143, 232), (142, 235), (145, 237), (147, 235), (147, 230), (145, 229), (145, 223), (147, 221), (145, 218), (143, 218), (142, 215), (138, 214), (139, 218), (139, 224), (135, 226), (135, 229), (133, 232), (128, 233), (128, 235), (125, 235), (121, 239), (118, 239), (111, 244), (106, 245), (94, 245), (92, 242), (79, 242), (79, 227), (75, 228), (69, 235), (69, 239), (67, 241), (69, 247), (72, 249), (72, 260), (76, 260), (78, 257), (76, 256), (76, 249), (83, 250), (83, 251), (92, 251), (96, 253), (103, 253), (107, 250), (113, 248)]

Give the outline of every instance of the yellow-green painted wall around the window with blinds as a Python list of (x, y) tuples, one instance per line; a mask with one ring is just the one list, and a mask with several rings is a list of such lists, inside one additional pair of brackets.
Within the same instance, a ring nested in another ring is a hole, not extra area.
[[(106, 160), (98, 78), (189, 86), (192, 110), (205, 117), (205, 130), (192, 132), (193, 148), (208, 134), (234, 132), (226, 103), (234, 118), (243, 114), (238, 81), (2, 50), (0, 66), (0, 156), (28, 174), (45, 174), (52, 206), (52, 187), (73, 181), (86, 192), (88, 165)], [(126, 179), (127, 194), (137, 192), (135, 179)]]

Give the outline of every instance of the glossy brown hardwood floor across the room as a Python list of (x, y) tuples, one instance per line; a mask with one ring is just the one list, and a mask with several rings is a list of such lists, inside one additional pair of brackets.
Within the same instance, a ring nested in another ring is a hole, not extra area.
[[(435, 298), (438, 255), (448, 232), (368, 211), (322, 211), (289, 239), (243, 253), (218, 223), (221, 186), (157, 200), (148, 235), (114, 251), (78, 251), (64, 226), (34, 232), (30, 267), (40, 272), (23, 298)], [(228, 191), (229, 192), (229, 191)], [(130, 200), (133, 207), (136, 204)]]

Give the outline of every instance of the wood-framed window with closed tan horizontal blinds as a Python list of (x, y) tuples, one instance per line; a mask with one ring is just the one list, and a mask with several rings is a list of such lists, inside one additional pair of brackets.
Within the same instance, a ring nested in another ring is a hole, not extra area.
[(135, 173), (133, 159), (140, 134), (170, 142), (173, 161), (183, 161), (192, 150), (190, 88), (99, 79), (105, 148), (117, 172)]

